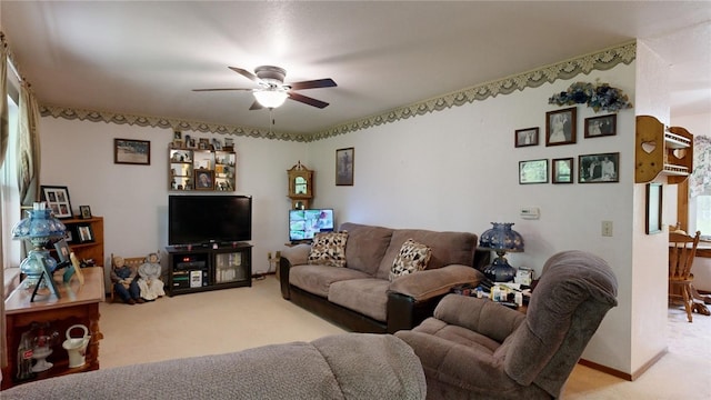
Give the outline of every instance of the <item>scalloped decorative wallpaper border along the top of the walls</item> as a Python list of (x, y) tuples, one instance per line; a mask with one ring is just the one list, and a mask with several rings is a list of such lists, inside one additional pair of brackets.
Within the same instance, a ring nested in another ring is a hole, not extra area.
[(93, 122), (128, 123), (139, 127), (171, 128), (177, 130), (191, 130), (197, 132), (212, 132), (221, 134), (234, 134), (241, 137), (264, 138), (276, 140), (291, 140), (299, 142), (317, 141), (339, 134), (354, 132), (370, 127), (391, 123), (399, 120), (424, 116), (431, 112), (441, 111), (452, 107), (460, 107), (477, 100), (482, 101), (499, 94), (510, 94), (517, 90), (525, 88), (538, 88), (545, 82), (553, 82), (558, 79), (570, 79), (580, 73), (590, 73), (593, 70), (609, 70), (619, 63), (629, 64), (637, 57), (637, 41), (620, 44), (574, 59), (557, 62), (554, 64), (538, 68), (532, 71), (519, 73), (503, 79), (484, 82), (471, 88), (447, 93), (429, 100), (423, 100), (413, 104), (403, 106), (379, 114), (365, 117), (351, 122), (337, 124), (322, 131), (313, 133), (286, 133), (270, 131), (261, 128), (249, 128), (200, 121), (187, 121), (174, 118), (148, 117), (122, 114), (108, 111), (94, 111), (63, 108), (59, 106), (40, 106), (43, 117), (64, 118), (69, 120), (79, 119)]

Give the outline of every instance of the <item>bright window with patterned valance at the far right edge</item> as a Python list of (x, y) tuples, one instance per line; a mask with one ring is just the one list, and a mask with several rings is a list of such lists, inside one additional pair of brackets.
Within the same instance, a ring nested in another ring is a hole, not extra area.
[(711, 138), (693, 139), (693, 171), (689, 177), (689, 231), (711, 239)]

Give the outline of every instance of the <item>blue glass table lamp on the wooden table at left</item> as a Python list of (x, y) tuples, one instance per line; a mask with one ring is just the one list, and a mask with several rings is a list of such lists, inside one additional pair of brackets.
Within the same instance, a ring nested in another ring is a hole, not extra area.
[(38, 284), (46, 267), (50, 272), (54, 271), (57, 261), (49, 256), (44, 246), (52, 239), (63, 238), (66, 230), (67, 227), (54, 218), (52, 210), (48, 209), (44, 202), (36, 202), (32, 209), (27, 211), (27, 217), (12, 228), (12, 239), (27, 239), (34, 247), (20, 263), (20, 272), (27, 276), (22, 282), (24, 289)]

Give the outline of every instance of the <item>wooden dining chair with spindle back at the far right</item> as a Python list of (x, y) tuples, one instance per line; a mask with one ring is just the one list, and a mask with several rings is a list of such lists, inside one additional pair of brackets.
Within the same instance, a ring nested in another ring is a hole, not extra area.
[(669, 300), (674, 301), (681, 298), (687, 310), (689, 322), (693, 321), (692, 311), (694, 306), (693, 274), (691, 267), (697, 257), (697, 247), (701, 232), (690, 237), (685, 233), (669, 233)]

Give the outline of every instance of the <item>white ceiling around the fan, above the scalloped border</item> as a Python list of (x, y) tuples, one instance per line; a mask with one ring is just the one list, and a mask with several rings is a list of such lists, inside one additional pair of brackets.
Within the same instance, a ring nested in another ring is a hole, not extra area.
[(709, 1), (8, 1), (21, 73), (41, 104), (269, 127), (256, 88), (228, 69), (287, 70), (337, 88), (274, 110), (274, 129), (316, 132), (561, 60), (645, 40), (672, 67), (672, 117), (711, 111)]

